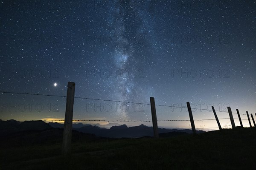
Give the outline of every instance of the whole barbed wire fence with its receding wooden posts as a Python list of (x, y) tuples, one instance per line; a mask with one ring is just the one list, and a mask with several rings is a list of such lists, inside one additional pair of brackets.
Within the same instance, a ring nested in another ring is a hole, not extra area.
[[(148, 103), (139, 103), (139, 102), (129, 102), (129, 101), (118, 101), (118, 100), (107, 100), (107, 99), (94, 99), (94, 98), (86, 98), (86, 97), (76, 97), (75, 96), (75, 83), (74, 82), (68, 82), (67, 86), (67, 96), (61, 96), (61, 95), (47, 95), (47, 94), (32, 94), (32, 93), (18, 93), (18, 92), (8, 92), (8, 91), (0, 91), (0, 93), (5, 94), (24, 94), (24, 95), (37, 95), (37, 96), (55, 96), (55, 97), (66, 97), (66, 112), (65, 112), (65, 119), (59, 119), (59, 120), (44, 120), (45, 122), (61, 122), (64, 121), (64, 137), (63, 137), (63, 146), (62, 146), (62, 152), (63, 155), (69, 156), (71, 153), (71, 133), (72, 133), (72, 122), (73, 121), (97, 121), (97, 122), (152, 122), (153, 130), (154, 130), (154, 138), (158, 138), (158, 126), (157, 122), (172, 122), (172, 121), (190, 121), (192, 132), (195, 135), (196, 134), (196, 128), (195, 128), (195, 122), (194, 121), (210, 121), (210, 120), (216, 120), (218, 127), (208, 127), (211, 129), (218, 128), (219, 130), (222, 130), (221, 124), (219, 122), (220, 119), (218, 119), (218, 116), (216, 114), (215, 108), (212, 106), (212, 110), (209, 109), (203, 109), (200, 108), (200, 110), (204, 111), (212, 111), (214, 113), (215, 119), (194, 119), (192, 114), (193, 110), (198, 110), (198, 108), (191, 108), (190, 103), (187, 102), (187, 107), (180, 107), (180, 106), (171, 106), (171, 105), (156, 105), (154, 101), (154, 97), (150, 97), (150, 104)], [(151, 116), (152, 120), (96, 120), (96, 119), (73, 119), (73, 105), (74, 105), (74, 99), (90, 99), (90, 100), (98, 100), (98, 101), (109, 101), (109, 102), (122, 102), (122, 103), (129, 103), (129, 104), (143, 104), (143, 105), (150, 105), (151, 106)], [(188, 109), (189, 112), (189, 119), (169, 119), (169, 120), (157, 120), (157, 109), (156, 106), (159, 107), (170, 107), (170, 108), (185, 108)], [(218, 111), (218, 112), (224, 112), (229, 114), (229, 118), (221, 118), (221, 119), (230, 119), (232, 128), (235, 128), (235, 122), (233, 118), (233, 114), (238, 115), (238, 119), (240, 122), (240, 126), (243, 127), (242, 120), (246, 120), (249, 122), (250, 127), (252, 127), (252, 124), (250, 122), (250, 116), (253, 121), (254, 127), (256, 127), (253, 114), (250, 114), (246, 111), (246, 114), (239, 113), (239, 110), (236, 109), (237, 113), (233, 113), (231, 111), (230, 107), (227, 107), (228, 112), (226, 111)], [(255, 113), (256, 114), (256, 113)], [(247, 119), (241, 119), (241, 115), (247, 116)], [(229, 127), (227, 126), (227, 127)], [(200, 129), (200, 128), (197, 128)]]

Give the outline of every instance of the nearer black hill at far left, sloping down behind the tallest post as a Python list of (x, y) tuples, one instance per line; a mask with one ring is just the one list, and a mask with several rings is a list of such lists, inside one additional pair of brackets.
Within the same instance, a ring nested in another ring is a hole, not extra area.
[[(27, 146), (33, 144), (61, 143), (63, 128), (51, 127), (44, 121), (0, 120), (1, 146)], [(72, 141), (89, 141), (97, 139), (93, 134), (72, 130)]]

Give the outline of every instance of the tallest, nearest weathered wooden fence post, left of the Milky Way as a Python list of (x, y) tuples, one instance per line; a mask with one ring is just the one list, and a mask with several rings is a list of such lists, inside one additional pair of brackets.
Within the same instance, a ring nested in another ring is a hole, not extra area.
[(67, 102), (62, 142), (62, 155), (71, 156), (71, 138), (72, 138), (72, 119), (73, 119), (73, 105), (75, 98), (75, 83), (68, 82), (67, 84)]

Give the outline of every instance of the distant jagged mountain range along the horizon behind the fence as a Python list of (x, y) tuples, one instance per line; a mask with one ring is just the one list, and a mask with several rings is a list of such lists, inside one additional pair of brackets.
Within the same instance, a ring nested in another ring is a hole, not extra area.
[[(114, 124), (116, 125), (116, 124)], [(17, 122), (16, 120), (0, 120), (0, 136), (6, 136), (8, 134), (31, 131), (31, 130), (52, 130), (55, 128), (63, 128), (64, 125), (57, 122), (46, 123), (44, 121), (24, 121)], [(84, 125), (82, 123), (73, 124), (73, 131), (93, 134), (94, 136), (108, 137), (108, 138), (138, 138), (143, 136), (153, 136), (153, 127), (148, 127), (143, 124), (140, 126), (127, 127), (127, 125), (116, 125), (110, 129), (99, 127), (97, 125)], [(197, 133), (203, 133), (204, 131), (198, 130)], [(165, 129), (158, 128), (160, 136), (176, 136), (182, 134), (192, 133), (190, 129)]]

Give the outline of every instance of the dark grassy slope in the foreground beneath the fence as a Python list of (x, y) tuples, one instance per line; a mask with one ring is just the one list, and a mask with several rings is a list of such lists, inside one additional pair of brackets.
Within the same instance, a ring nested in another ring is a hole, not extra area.
[(72, 158), (61, 143), (0, 146), (1, 170), (252, 170), (256, 128), (225, 129), (160, 139), (73, 142)]

